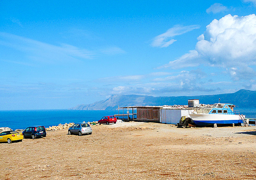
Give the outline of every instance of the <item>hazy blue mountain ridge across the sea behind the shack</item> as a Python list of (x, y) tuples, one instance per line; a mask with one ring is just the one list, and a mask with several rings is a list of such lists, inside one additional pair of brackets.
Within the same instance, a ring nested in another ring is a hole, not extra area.
[(113, 95), (106, 100), (92, 104), (80, 104), (70, 110), (114, 110), (126, 106), (160, 106), (160, 105), (185, 105), (188, 99), (199, 99), (200, 104), (214, 104), (219, 98), (221, 103), (235, 104), (239, 109), (255, 108), (256, 91), (241, 89), (234, 93), (203, 95), (203, 96), (141, 96), (141, 95)]

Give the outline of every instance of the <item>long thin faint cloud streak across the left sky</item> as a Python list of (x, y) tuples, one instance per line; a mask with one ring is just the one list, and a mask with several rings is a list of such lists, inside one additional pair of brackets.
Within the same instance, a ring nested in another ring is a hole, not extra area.
[(21, 51), (31, 60), (42, 62), (92, 59), (96, 55), (114, 55), (124, 52), (119, 47), (88, 50), (65, 43), (57, 46), (4, 32), (0, 32), (0, 45), (12, 47), (15, 50)]

